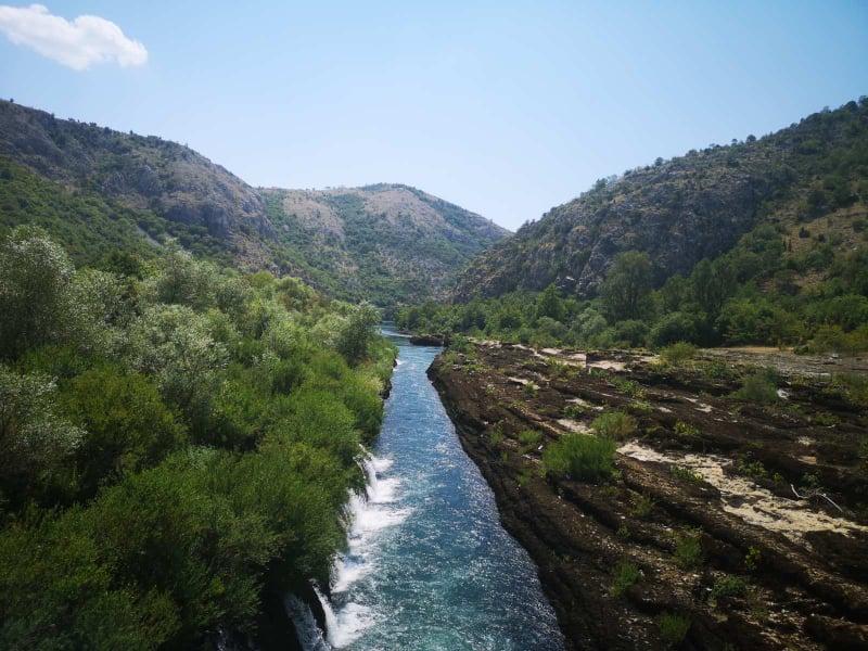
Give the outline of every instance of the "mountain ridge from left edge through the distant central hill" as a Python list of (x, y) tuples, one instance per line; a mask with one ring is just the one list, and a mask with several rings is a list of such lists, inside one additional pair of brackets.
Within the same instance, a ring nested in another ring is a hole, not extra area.
[(254, 188), (188, 146), (0, 102), (0, 229), (36, 222), (78, 261), (165, 238), (381, 305), (435, 295), (508, 231), (406, 186)]

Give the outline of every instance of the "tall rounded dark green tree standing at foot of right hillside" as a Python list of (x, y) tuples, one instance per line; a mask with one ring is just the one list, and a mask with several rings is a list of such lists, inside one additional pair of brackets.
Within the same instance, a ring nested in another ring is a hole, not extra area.
[(640, 319), (649, 310), (651, 258), (628, 251), (615, 257), (602, 284), (601, 297), (612, 320)]

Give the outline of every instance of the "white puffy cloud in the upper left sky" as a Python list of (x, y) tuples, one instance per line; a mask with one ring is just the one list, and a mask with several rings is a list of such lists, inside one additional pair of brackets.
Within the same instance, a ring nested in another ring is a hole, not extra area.
[(127, 67), (148, 62), (144, 46), (124, 36), (111, 21), (85, 15), (69, 22), (41, 4), (0, 4), (0, 31), (16, 46), (26, 46), (75, 71), (95, 63)]

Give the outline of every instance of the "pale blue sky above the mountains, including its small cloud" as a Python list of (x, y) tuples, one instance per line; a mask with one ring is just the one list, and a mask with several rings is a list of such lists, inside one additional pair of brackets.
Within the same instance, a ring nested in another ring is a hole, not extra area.
[(0, 0), (0, 97), (254, 186), (414, 186), (509, 229), (868, 94), (868, 2)]

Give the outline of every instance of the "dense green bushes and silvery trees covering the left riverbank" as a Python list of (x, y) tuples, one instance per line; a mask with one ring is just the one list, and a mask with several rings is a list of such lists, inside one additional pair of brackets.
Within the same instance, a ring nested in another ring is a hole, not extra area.
[(188, 649), (345, 545), (376, 312), (180, 248), (126, 263), (0, 243), (0, 648)]

